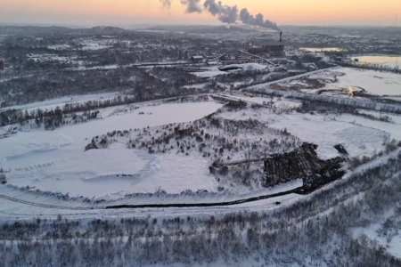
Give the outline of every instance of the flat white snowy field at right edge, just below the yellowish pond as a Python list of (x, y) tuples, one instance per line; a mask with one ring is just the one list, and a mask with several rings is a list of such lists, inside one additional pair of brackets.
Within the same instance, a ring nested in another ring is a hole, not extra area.
[(345, 75), (339, 76), (338, 81), (326, 85), (327, 89), (348, 88), (359, 86), (367, 93), (376, 95), (401, 95), (401, 75), (376, 70), (341, 68), (336, 71)]

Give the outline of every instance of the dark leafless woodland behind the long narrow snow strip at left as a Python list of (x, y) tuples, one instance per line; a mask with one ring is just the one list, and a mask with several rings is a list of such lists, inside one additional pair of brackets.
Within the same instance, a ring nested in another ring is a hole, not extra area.
[[(181, 69), (117, 68), (37, 71), (24, 76), (15, 73), (15, 79), (0, 83), (3, 107), (45, 101), (83, 93), (127, 92), (138, 101), (191, 94), (184, 85), (196, 84), (200, 78)], [(11, 93), (12, 92), (12, 93)]]

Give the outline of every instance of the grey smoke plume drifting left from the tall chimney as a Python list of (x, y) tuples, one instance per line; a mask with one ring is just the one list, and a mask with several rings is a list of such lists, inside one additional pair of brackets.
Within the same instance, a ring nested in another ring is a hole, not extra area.
[[(165, 7), (170, 7), (171, 1), (172, 0), (160, 0)], [(184, 4), (186, 12), (188, 13), (201, 13), (205, 10), (223, 23), (241, 21), (243, 24), (247, 25), (279, 30), (277, 24), (270, 20), (265, 20), (265, 17), (261, 13), (252, 15), (246, 8), (241, 9), (241, 12), (239, 12), (236, 5), (230, 6), (222, 4), (220, 1), (217, 2), (216, 0), (205, 0), (203, 6), (201, 5), (201, 0), (180, 0), (180, 2)]]

